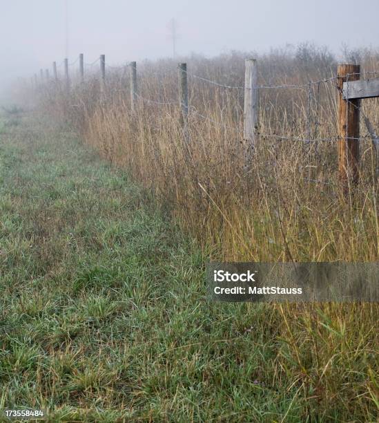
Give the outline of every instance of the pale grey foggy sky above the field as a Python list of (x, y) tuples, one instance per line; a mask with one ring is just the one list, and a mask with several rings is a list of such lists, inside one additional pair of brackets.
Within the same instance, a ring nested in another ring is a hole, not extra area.
[[(377, 47), (379, 0), (66, 0), (68, 57), (108, 64), (172, 56), (217, 55), (313, 41), (338, 53)], [(66, 52), (65, 0), (0, 0), (0, 84), (51, 68)]]

